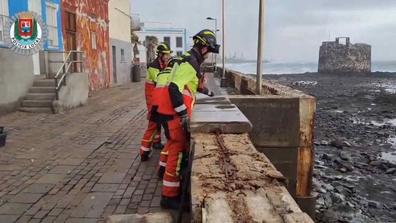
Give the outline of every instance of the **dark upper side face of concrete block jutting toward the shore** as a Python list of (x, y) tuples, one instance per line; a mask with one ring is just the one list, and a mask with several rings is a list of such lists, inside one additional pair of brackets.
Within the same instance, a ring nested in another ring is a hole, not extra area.
[(253, 123), (249, 135), (254, 146), (299, 146), (299, 98), (233, 95), (228, 99)]

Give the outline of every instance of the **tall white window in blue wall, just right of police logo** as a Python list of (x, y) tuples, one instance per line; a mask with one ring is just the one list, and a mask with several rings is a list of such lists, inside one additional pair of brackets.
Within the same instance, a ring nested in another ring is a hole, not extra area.
[(59, 47), (58, 44), (58, 20), (57, 20), (58, 4), (53, 2), (46, 2), (46, 23), (48, 26), (48, 48)]

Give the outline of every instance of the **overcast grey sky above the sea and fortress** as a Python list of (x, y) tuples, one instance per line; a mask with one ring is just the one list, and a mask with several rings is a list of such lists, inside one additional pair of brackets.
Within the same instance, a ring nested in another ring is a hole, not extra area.
[[(257, 59), (259, 0), (225, 1), (226, 55)], [(222, 31), (221, 0), (131, 0), (143, 21)], [(264, 57), (272, 62), (316, 62), (322, 41), (350, 37), (371, 45), (372, 60), (396, 60), (396, 0), (265, 0)], [(219, 44), (222, 35), (217, 33)], [(221, 50), (221, 49), (220, 49)]]

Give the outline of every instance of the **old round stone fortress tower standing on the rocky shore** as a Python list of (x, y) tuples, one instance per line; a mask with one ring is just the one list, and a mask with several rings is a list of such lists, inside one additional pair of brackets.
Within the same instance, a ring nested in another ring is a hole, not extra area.
[(371, 46), (364, 43), (351, 44), (349, 37), (346, 37), (346, 44), (340, 44), (339, 38), (334, 42), (322, 42), (318, 72), (371, 72)]

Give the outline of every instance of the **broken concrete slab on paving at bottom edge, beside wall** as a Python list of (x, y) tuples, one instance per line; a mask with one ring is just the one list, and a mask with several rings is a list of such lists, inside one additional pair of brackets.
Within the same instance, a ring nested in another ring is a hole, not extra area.
[(144, 215), (111, 215), (107, 217), (106, 223), (172, 223), (172, 215), (168, 212), (147, 213)]

